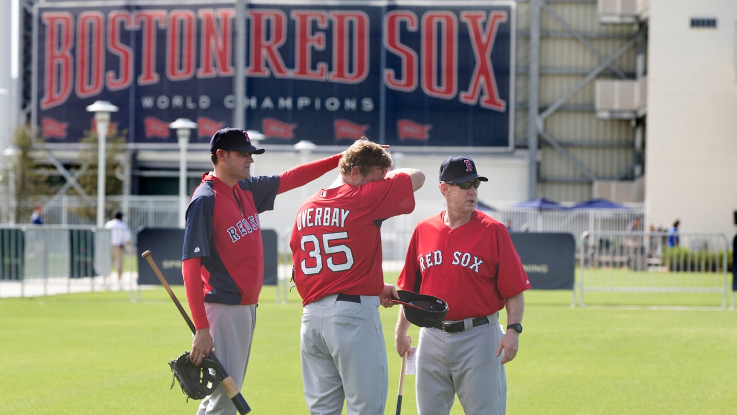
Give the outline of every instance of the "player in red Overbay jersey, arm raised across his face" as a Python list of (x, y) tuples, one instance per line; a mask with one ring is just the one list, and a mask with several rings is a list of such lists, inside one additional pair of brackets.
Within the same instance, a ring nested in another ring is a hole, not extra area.
[(357, 140), (338, 179), (298, 210), (290, 247), (302, 297), (301, 360), (310, 414), (383, 415), (388, 389), (379, 304), (397, 289), (384, 283), (383, 220), (411, 213), (422, 171), (389, 171), (382, 145)]

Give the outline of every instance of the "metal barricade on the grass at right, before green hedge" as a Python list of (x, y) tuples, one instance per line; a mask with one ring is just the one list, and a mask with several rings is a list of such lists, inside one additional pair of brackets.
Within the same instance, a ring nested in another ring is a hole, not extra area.
[(678, 233), (674, 240), (663, 232), (585, 231), (578, 249), (574, 305), (585, 305), (585, 292), (712, 292), (727, 307), (730, 244), (723, 233)]

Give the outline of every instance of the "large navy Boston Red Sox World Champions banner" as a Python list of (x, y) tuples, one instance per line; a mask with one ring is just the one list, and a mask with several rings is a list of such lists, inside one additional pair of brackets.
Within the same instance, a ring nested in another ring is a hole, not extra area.
[(514, 148), (514, 1), (240, 1), (36, 4), (43, 140), (77, 142), (108, 100), (133, 145), (175, 146), (179, 117), (206, 143), (243, 109), (267, 144)]

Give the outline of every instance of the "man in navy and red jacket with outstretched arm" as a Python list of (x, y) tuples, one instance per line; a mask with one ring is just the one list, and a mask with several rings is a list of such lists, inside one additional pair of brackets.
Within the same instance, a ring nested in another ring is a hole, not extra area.
[[(259, 213), (273, 210), (279, 193), (305, 185), (338, 166), (340, 154), (274, 176), (251, 177), (255, 147), (240, 128), (223, 128), (210, 140), (213, 169), (203, 174), (186, 210), (182, 275), (195, 323), (192, 363), (217, 347), (217, 358), (242, 387), (256, 327), (264, 259)], [(198, 414), (235, 414), (222, 387)]]

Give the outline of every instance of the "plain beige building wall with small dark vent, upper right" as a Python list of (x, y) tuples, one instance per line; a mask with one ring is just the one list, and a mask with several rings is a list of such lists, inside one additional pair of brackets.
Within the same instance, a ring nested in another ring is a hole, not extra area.
[[(691, 18), (716, 18), (692, 28)], [(646, 223), (737, 227), (737, 1), (651, 0)]]

